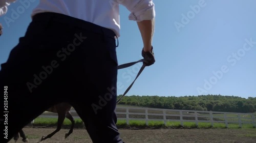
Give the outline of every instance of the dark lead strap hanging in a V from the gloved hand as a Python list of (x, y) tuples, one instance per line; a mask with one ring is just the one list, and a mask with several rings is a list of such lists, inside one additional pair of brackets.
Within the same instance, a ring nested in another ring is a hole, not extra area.
[[(126, 64), (122, 64), (122, 65), (119, 65), (117, 66), (117, 69), (123, 69), (123, 68), (127, 68), (127, 67), (130, 67), (136, 63), (139, 63), (139, 62), (143, 62), (143, 59), (137, 61), (137, 62), (131, 62), (131, 63), (126, 63)], [(120, 100), (124, 97), (124, 95), (132, 88), (133, 86), (133, 83), (135, 82), (135, 80), (139, 77), (139, 75), (141, 74), (141, 72), (144, 70), (144, 68), (146, 67), (146, 64), (143, 63), (142, 67), (140, 68), (140, 71), (138, 72), (136, 78), (134, 79), (134, 81), (132, 82), (132, 84), (127, 88), (127, 90), (124, 92), (124, 94), (121, 96), (121, 98), (119, 98), (116, 102), (116, 104), (118, 104), (120, 102)]]

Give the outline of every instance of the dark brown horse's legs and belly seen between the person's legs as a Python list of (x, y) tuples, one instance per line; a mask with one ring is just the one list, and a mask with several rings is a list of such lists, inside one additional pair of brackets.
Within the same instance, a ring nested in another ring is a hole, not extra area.
[[(56, 104), (46, 110), (46, 111), (58, 113), (57, 129), (55, 131), (53, 131), (52, 133), (48, 134), (47, 136), (45, 136), (45, 135), (42, 136), (40, 141), (45, 140), (47, 138), (51, 138), (55, 133), (57, 133), (61, 129), (62, 123), (65, 120), (65, 118), (68, 118), (72, 123), (69, 132), (65, 134), (65, 138), (67, 138), (73, 132), (75, 120), (71, 115), (71, 112), (70, 112), (71, 108), (72, 108), (72, 106), (69, 103), (62, 102), (62, 103)], [(25, 142), (26, 136), (25, 136), (23, 130), (20, 130), (19, 133), (20, 133), (20, 136), (23, 137), (23, 141)], [(24, 137), (25, 137), (25, 139), (24, 139)], [(17, 141), (17, 139), (18, 139), (18, 133), (14, 136), (15, 142)], [(28, 142), (28, 139), (27, 139), (27, 142)]]

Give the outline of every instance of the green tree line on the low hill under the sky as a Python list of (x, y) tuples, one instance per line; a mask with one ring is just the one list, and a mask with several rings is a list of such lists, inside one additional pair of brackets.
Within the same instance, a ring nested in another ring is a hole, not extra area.
[[(117, 96), (119, 99), (122, 95)], [(119, 104), (151, 108), (204, 110), (222, 112), (255, 112), (256, 97), (199, 95), (199, 96), (124, 96)]]

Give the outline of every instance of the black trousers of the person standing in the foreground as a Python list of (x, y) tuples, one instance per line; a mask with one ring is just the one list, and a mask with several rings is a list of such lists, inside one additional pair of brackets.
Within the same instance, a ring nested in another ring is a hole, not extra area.
[(113, 31), (83, 20), (37, 14), (0, 71), (2, 93), (8, 86), (4, 142), (59, 102), (75, 108), (93, 142), (122, 142), (114, 112), (118, 65), (114, 36)]

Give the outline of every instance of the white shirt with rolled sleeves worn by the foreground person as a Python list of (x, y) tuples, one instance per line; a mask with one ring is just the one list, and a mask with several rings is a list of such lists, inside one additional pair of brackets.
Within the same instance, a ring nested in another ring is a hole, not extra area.
[[(0, 16), (16, 0), (0, 0)], [(113, 30), (120, 36), (119, 4), (131, 12), (129, 20), (151, 20), (155, 17), (153, 0), (40, 0), (31, 16), (41, 12), (55, 12), (82, 19)]]

